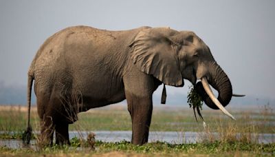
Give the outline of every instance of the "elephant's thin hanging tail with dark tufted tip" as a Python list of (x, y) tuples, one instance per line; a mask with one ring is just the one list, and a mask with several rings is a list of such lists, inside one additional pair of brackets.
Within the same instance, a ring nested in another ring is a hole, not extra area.
[(32, 137), (32, 126), (30, 125), (30, 104), (32, 98), (32, 83), (34, 81), (34, 77), (28, 74), (28, 122), (27, 129), (23, 133), (22, 139), (23, 143), (28, 145), (30, 144), (30, 138)]

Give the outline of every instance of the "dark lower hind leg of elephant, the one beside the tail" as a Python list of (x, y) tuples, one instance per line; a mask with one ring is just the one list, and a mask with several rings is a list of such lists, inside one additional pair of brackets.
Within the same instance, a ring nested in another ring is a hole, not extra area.
[(44, 116), (41, 121), (41, 135), (39, 136), (39, 145), (41, 147), (47, 147), (53, 145), (54, 137), (54, 124), (52, 123), (52, 117)]

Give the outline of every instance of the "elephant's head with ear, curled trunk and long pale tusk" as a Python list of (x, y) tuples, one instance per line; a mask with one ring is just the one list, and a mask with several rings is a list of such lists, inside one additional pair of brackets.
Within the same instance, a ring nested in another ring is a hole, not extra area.
[[(152, 74), (166, 85), (183, 86), (184, 79), (193, 85), (212, 109), (221, 109), (232, 98), (232, 85), (212, 56), (210, 49), (195, 33), (170, 28), (148, 28), (135, 36), (131, 59), (142, 72)], [(209, 84), (219, 92), (215, 98)], [(222, 104), (222, 105), (221, 105)]]

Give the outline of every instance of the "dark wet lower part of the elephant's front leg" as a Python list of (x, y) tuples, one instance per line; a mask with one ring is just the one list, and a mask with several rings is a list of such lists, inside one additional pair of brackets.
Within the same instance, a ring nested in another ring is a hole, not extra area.
[(132, 118), (132, 143), (134, 145), (143, 145), (148, 142), (153, 110), (151, 98), (139, 98), (128, 95), (127, 102), (128, 110)]

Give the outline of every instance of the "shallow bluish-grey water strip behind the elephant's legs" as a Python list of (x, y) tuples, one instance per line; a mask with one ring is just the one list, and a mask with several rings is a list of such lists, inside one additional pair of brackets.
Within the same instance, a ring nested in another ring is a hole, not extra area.
[[(120, 142), (121, 140), (131, 141), (131, 131), (97, 131), (96, 140), (102, 140), (104, 142)], [(69, 132), (69, 138), (87, 138), (89, 132)], [(217, 138), (217, 133), (212, 133), (214, 138)], [(149, 143), (162, 141), (171, 144), (180, 144), (180, 143), (199, 143), (201, 138), (207, 137), (206, 133), (203, 132), (150, 132), (149, 134)], [(253, 134), (252, 138), (258, 138), (259, 143), (275, 143), (275, 134)], [(206, 139), (206, 138), (204, 138)], [(28, 147), (36, 149), (34, 145), (35, 140), (31, 140), (31, 144)], [(6, 146), (13, 149), (25, 147), (22, 143), (22, 140), (0, 140), (0, 146)]]

